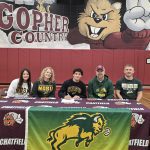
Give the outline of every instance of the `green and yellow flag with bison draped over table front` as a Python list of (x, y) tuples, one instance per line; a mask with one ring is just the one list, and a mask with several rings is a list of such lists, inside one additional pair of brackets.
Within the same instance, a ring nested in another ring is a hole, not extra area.
[(26, 150), (128, 150), (127, 109), (32, 107)]

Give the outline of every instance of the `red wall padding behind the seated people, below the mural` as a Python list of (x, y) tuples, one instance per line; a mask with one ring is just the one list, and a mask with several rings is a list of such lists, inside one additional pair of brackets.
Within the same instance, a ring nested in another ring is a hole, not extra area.
[(55, 70), (56, 83), (72, 77), (72, 70), (81, 67), (84, 71), (83, 81), (95, 75), (95, 67), (102, 64), (106, 73), (115, 84), (123, 75), (123, 66), (135, 66), (135, 76), (144, 85), (150, 85), (149, 51), (141, 50), (48, 50), (48, 49), (0, 49), (0, 83), (10, 83), (19, 77), (22, 68), (28, 67), (32, 73), (32, 81), (38, 79), (41, 69), (52, 66)]

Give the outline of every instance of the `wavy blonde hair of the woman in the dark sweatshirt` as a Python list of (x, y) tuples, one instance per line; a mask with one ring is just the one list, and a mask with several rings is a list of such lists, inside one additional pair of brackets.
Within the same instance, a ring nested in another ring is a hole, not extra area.
[(52, 67), (45, 67), (42, 71), (41, 71), (41, 75), (39, 77), (39, 81), (43, 82), (44, 81), (44, 74), (47, 70), (51, 71), (51, 78), (49, 79), (50, 82), (54, 82), (55, 81), (55, 74), (54, 74), (54, 70)]

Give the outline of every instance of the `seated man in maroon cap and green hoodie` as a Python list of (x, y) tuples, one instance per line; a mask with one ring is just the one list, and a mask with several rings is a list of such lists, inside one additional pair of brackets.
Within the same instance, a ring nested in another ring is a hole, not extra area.
[(96, 76), (89, 81), (88, 97), (100, 99), (112, 99), (114, 96), (114, 88), (112, 81), (105, 75), (104, 66), (96, 67)]

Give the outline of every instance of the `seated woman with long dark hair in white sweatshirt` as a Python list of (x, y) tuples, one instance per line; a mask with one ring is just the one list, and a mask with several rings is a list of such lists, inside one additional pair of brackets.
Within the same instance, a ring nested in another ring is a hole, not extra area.
[(11, 82), (6, 97), (28, 97), (31, 93), (32, 86), (30, 70), (24, 68), (20, 73), (20, 78), (14, 79)]

